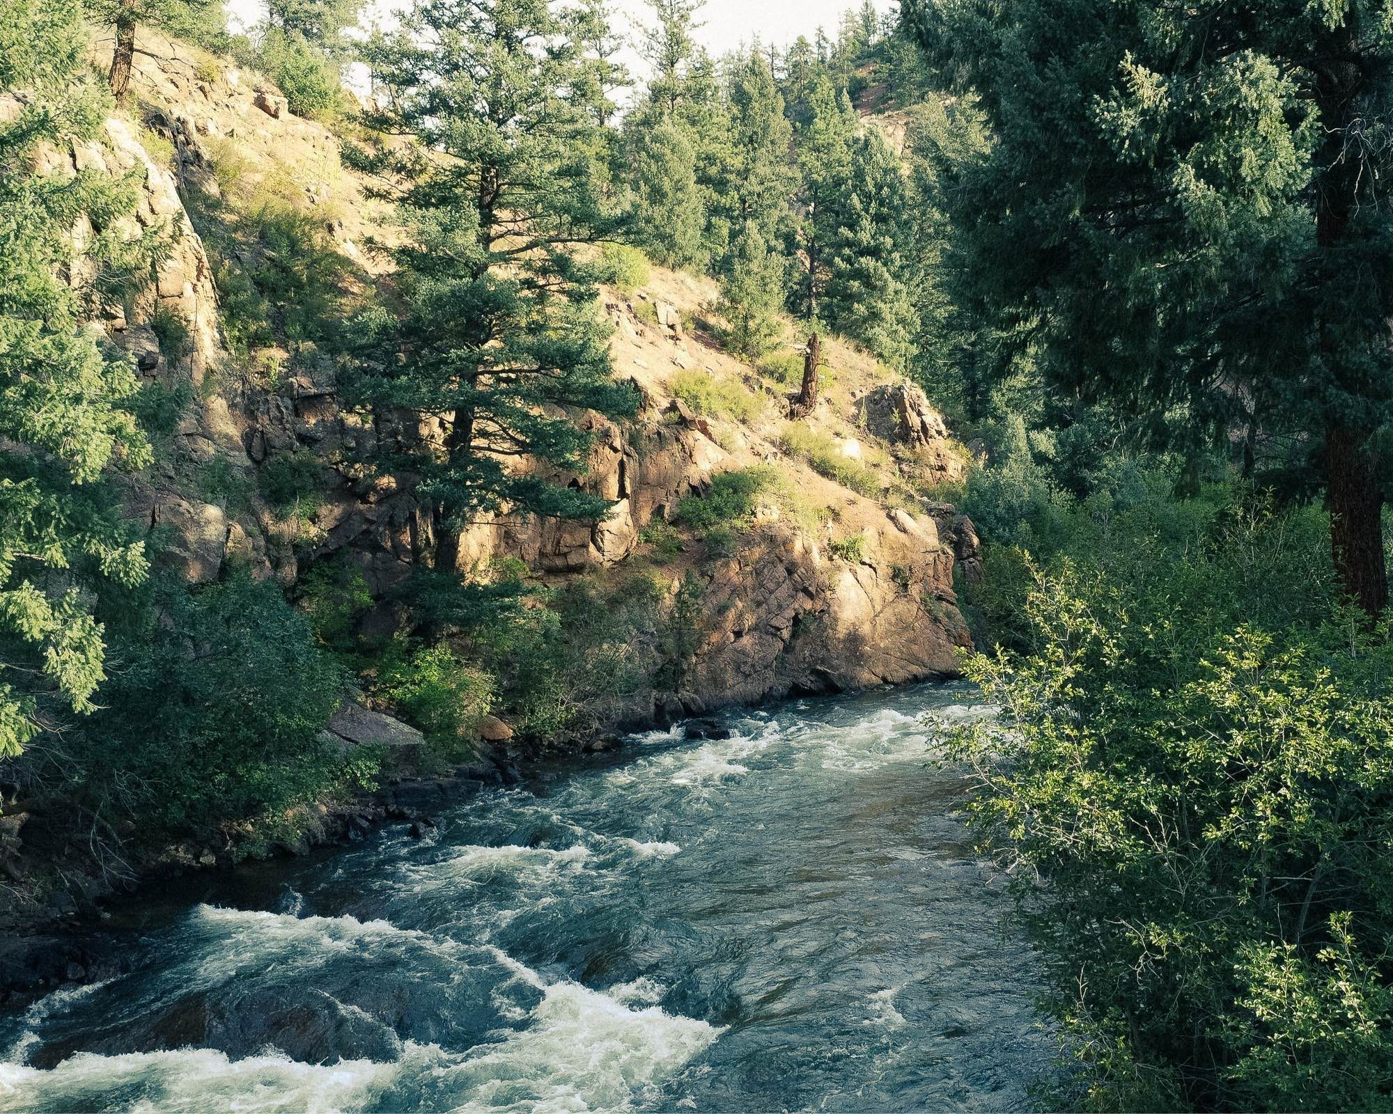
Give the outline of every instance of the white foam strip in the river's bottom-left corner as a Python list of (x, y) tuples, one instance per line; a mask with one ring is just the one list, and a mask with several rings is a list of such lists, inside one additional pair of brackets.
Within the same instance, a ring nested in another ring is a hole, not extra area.
[(228, 1060), (210, 1049), (78, 1053), (47, 1071), (0, 1064), (0, 1111), (336, 1114), (373, 1101), (398, 1071), (398, 1064), (368, 1060), (332, 1065), (299, 1064), (279, 1054)]

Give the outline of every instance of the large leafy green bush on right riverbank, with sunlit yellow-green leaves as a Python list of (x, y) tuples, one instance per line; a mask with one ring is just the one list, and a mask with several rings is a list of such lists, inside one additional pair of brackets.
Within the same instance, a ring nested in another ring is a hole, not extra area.
[(967, 663), (1003, 713), (953, 755), (1080, 1068), (1056, 1100), (1382, 1108), (1390, 625), (1334, 603), (1318, 510), (1159, 487), (1015, 550), (1020, 652)]

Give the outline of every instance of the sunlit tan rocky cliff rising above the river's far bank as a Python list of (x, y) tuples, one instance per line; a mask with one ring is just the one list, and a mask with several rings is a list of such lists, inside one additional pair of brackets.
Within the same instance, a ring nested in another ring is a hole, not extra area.
[[(274, 178), (281, 203), (322, 228), (343, 263), (344, 288), (383, 281), (362, 245), (390, 226), (340, 166), (334, 134), (290, 116), (263, 81), (189, 57), (157, 35), (142, 47), (132, 110), (139, 123), (113, 117), (103, 143), (71, 153), (74, 168), (95, 160), (134, 174), (139, 224), (157, 224), (171, 238), (152, 287), (135, 305), (103, 313), (111, 344), (182, 407), (159, 462), (130, 486), (132, 514), (160, 531), (163, 560), (191, 581), (215, 579), (241, 561), (293, 588), (308, 565), (336, 561), (361, 571), (382, 597), (426, 547), (428, 524), (408, 489), (372, 479), (361, 461), (384, 437), (430, 430), (393, 429), (345, 407), (333, 362), (312, 345), (234, 355), (221, 329), (219, 267), (188, 202), (227, 192), (220, 171), (235, 152), (244, 181)], [(730, 358), (703, 327), (712, 301), (702, 280), (660, 270), (638, 291), (605, 292), (596, 312), (614, 324), (616, 373), (634, 382), (645, 404), (623, 427), (575, 414), (595, 448), (589, 469), (566, 479), (613, 500), (610, 514), (593, 526), (501, 518), (472, 531), (468, 563), (517, 558), (553, 583), (605, 578), (651, 560), (648, 528), (671, 521), (681, 500), (701, 496), (715, 475), (773, 465), (812, 514), (763, 507), (730, 551), (688, 539), (673, 567), (659, 567), (673, 592), (687, 578), (701, 585), (701, 614), (676, 705), (655, 696), (649, 710), (953, 674), (956, 649), (970, 645), (954, 568), (974, 572), (975, 535), (933, 499), (963, 469), (942, 418), (917, 389), (826, 343), (829, 387), (801, 423), (822, 457), (800, 455), (784, 444), (780, 384)], [(738, 391), (748, 405), (698, 412), (683, 401), (684, 375)], [(290, 458), (318, 489), (294, 517), (263, 494), (267, 469)], [(883, 487), (858, 482), (853, 490), (841, 482), (843, 464), (862, 480), (886, 476)]]

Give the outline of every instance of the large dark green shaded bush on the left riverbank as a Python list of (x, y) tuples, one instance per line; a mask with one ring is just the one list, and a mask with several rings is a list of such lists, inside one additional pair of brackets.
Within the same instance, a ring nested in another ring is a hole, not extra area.
[[(269, 582), (160, 583), (117, 618), (120, 668), (61, 777), (107, 823), (201, 831), (316, 799), (344, 677)], [(152, 730), (155, 727), (155, 730)]]

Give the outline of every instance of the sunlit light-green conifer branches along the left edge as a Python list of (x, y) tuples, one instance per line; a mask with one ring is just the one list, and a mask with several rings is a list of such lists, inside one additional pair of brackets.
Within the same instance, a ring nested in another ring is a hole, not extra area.
[[(109, 107), (85, 49), (77, 3), (0, 0), (0, 96), (17, 107), (0, 116), (0, 758), (61, 709), (92, 710), (104, 680), (92, 602), (146, 572), (100, 483), (110, 465), (150, 458), (123, 409), (135, 372), (103, 356), (64, 281), (74, 226), (109, 227), (134, 195), (95, 171), (33, 170), (40, 143), (95, 134)], [(84, 270), (111, 246), (99, 234)]]

